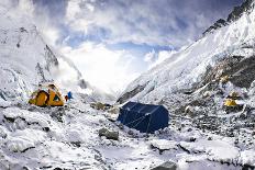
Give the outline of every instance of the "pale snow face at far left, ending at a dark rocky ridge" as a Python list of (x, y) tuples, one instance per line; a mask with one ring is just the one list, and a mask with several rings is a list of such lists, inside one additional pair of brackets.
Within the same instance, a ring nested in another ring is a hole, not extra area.
[(0, 13), (1, 97), (23, 99), (37, 82), (52, 80), (49, 69), (58, 61), (34, 25), (2, 7)]

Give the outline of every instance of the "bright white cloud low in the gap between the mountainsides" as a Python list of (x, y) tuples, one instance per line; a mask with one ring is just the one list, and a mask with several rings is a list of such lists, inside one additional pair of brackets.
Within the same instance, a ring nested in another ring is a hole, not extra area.
[(125, 50), (110, 50), (103, 44), (82, 43), (78, 48), (62, 49), (92, 86), (107, 93), (122, 91), (138, 76), (132, 67), (134, 57)]

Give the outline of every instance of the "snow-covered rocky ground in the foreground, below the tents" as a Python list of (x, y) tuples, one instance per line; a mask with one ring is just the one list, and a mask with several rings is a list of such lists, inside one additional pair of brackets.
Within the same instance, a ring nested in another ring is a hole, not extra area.
[[(202, 132), (184, 121), (181, 128), (140, 134), (119, 128), (108, 114), (79, 100), (65, 107), (0, 107), (0, 169), (151, 170), (168, 160), (178, 170), (255, 166), (254, 146), (240, 148), (234, 138)], [(102, 127), (118, 131), (119, 140), (99, 137)]]

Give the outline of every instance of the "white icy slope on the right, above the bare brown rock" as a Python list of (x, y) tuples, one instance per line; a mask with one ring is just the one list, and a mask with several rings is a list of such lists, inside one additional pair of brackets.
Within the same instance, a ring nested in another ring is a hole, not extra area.
[[(228, 56), (251, 57), (255, 45), (254, 1), (250, 11), (236, 21), (206, 34), (187, 48), (169, 56), (162, 64), (131, 82), (119, 102), (126, 100), (159, 103), (165, 97), (192, 89), (207, 71)], [(221, 75), (219, 73), (217, 78)]]

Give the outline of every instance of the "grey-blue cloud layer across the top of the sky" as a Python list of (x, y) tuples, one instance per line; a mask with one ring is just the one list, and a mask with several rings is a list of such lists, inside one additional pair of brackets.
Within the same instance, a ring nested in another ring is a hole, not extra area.
[[(5, 1), (5, 0), (4, 0)], [(181, 47), (198, 38), (219, 18), (225, 18), (242, 0), (12, 0), (34, 13), (36, 24), (52, 43), (68, 34), (97, 37), (104, 44)], [(31, 3), (33, 8), (31, 7)], [(40, 22), (37, 22), (40, 21)], [(45, 21), (45, 22), (44, 22)], [(46, 23), (46, 25), (45, 25)], [(52, 31), (48, 31), (48, 30)], [(58, 33), (57, 33), (58, 32)]]

